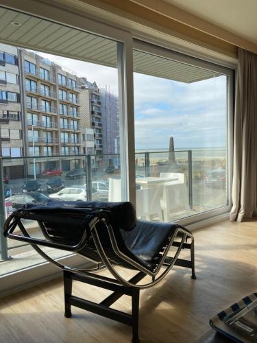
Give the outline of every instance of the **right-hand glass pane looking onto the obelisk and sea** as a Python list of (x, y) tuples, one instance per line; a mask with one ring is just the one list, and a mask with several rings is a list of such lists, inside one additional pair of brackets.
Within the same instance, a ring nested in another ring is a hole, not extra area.
[(228, 205), (227, 94), (225, 75), (134, 51), (138, 217)]

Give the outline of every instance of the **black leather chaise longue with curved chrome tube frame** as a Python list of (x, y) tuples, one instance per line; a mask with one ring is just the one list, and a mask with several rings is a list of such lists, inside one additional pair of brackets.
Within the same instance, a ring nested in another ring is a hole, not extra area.
[[(36, 220), (45, 239), (30, 237), (21, 220)], [(14, 230), (19, 227), (22, 235)], [(178, 224), (136, 220), (130, 202), (58, 202), (27, 204), (12, 213), (5, 222), (4, 235), (32, 244), (32, 247), (63, 270), (65, 316), (71, 317), (71, 305), (132, 326), (132, 342), (138, 338), (138, 302), (140, 289), (156, 285), (173, 265), (191, 268), (195, 279), (194, 240), (192, 233)], [(188, 243), (188, 239), (190, 242)], [(94, 268), (73, 269), (61, 265), (39, 246), (77, 252), (95, 263)], [(169, 250), (175, 250), (168, 256)], [(182, 249), (191, 250), (191, 260), (178, 259)], [(135, 270), (132, 279), (124, 279), (117, 268)], [(108, 268), (113, 277), (95, 274)], [(139, 284), (145, 276), (151, 282)], [(112, 291), (101, 303), (72, 295), (72, 281), (77, 280)], [(132, 297), (132, 314), (110, 308), (123, 294)]]

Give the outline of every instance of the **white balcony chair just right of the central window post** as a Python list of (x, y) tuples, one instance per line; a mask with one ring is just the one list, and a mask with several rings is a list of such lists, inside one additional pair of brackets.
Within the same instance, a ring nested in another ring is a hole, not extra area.
[(158, 215), (162, 221), (162, 210), (160, 208), (160, 198), (162, 187), (151, 187), (136, 190), (136, 214), (139, 218), (153, 220), (154, 215)]

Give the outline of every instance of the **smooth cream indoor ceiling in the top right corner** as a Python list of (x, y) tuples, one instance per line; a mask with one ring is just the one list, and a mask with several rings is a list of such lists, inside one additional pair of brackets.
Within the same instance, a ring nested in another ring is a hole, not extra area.
[(257, 0), (163, 0), (257, 43)]

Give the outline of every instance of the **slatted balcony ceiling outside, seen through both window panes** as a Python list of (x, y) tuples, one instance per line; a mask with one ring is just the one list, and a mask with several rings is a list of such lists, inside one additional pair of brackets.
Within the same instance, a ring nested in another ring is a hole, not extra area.
[[(21, 26), (14, 26), (19, 22)], [(0, 6), (0, 43), (117, 67), (117, 43)], [(134, 51), (134, 71), (180, 82), (215, 78), (218, 73)]]

